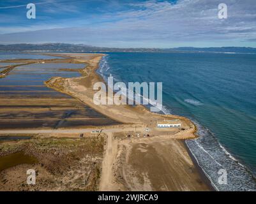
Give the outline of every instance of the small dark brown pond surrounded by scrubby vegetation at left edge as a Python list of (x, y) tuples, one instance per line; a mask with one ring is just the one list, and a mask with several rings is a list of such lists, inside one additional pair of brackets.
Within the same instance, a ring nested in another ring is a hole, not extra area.
[(32, 156), (24, 154), (24, 152), (16, 152), (8, 154), (7, 156), (0, 157), (0, 171), (6, 170), (19, 164), (34, 164), (37, 159)]

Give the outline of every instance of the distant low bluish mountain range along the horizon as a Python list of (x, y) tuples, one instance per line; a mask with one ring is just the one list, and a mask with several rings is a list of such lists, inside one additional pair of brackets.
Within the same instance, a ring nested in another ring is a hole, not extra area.
[(44, 52), (226, 52), (256, 54), (252, 47), (178, 47), (178, 48), (108, 48), (82, 44), (44, 43), (0, 45), (0, 51), (44, 51)]

